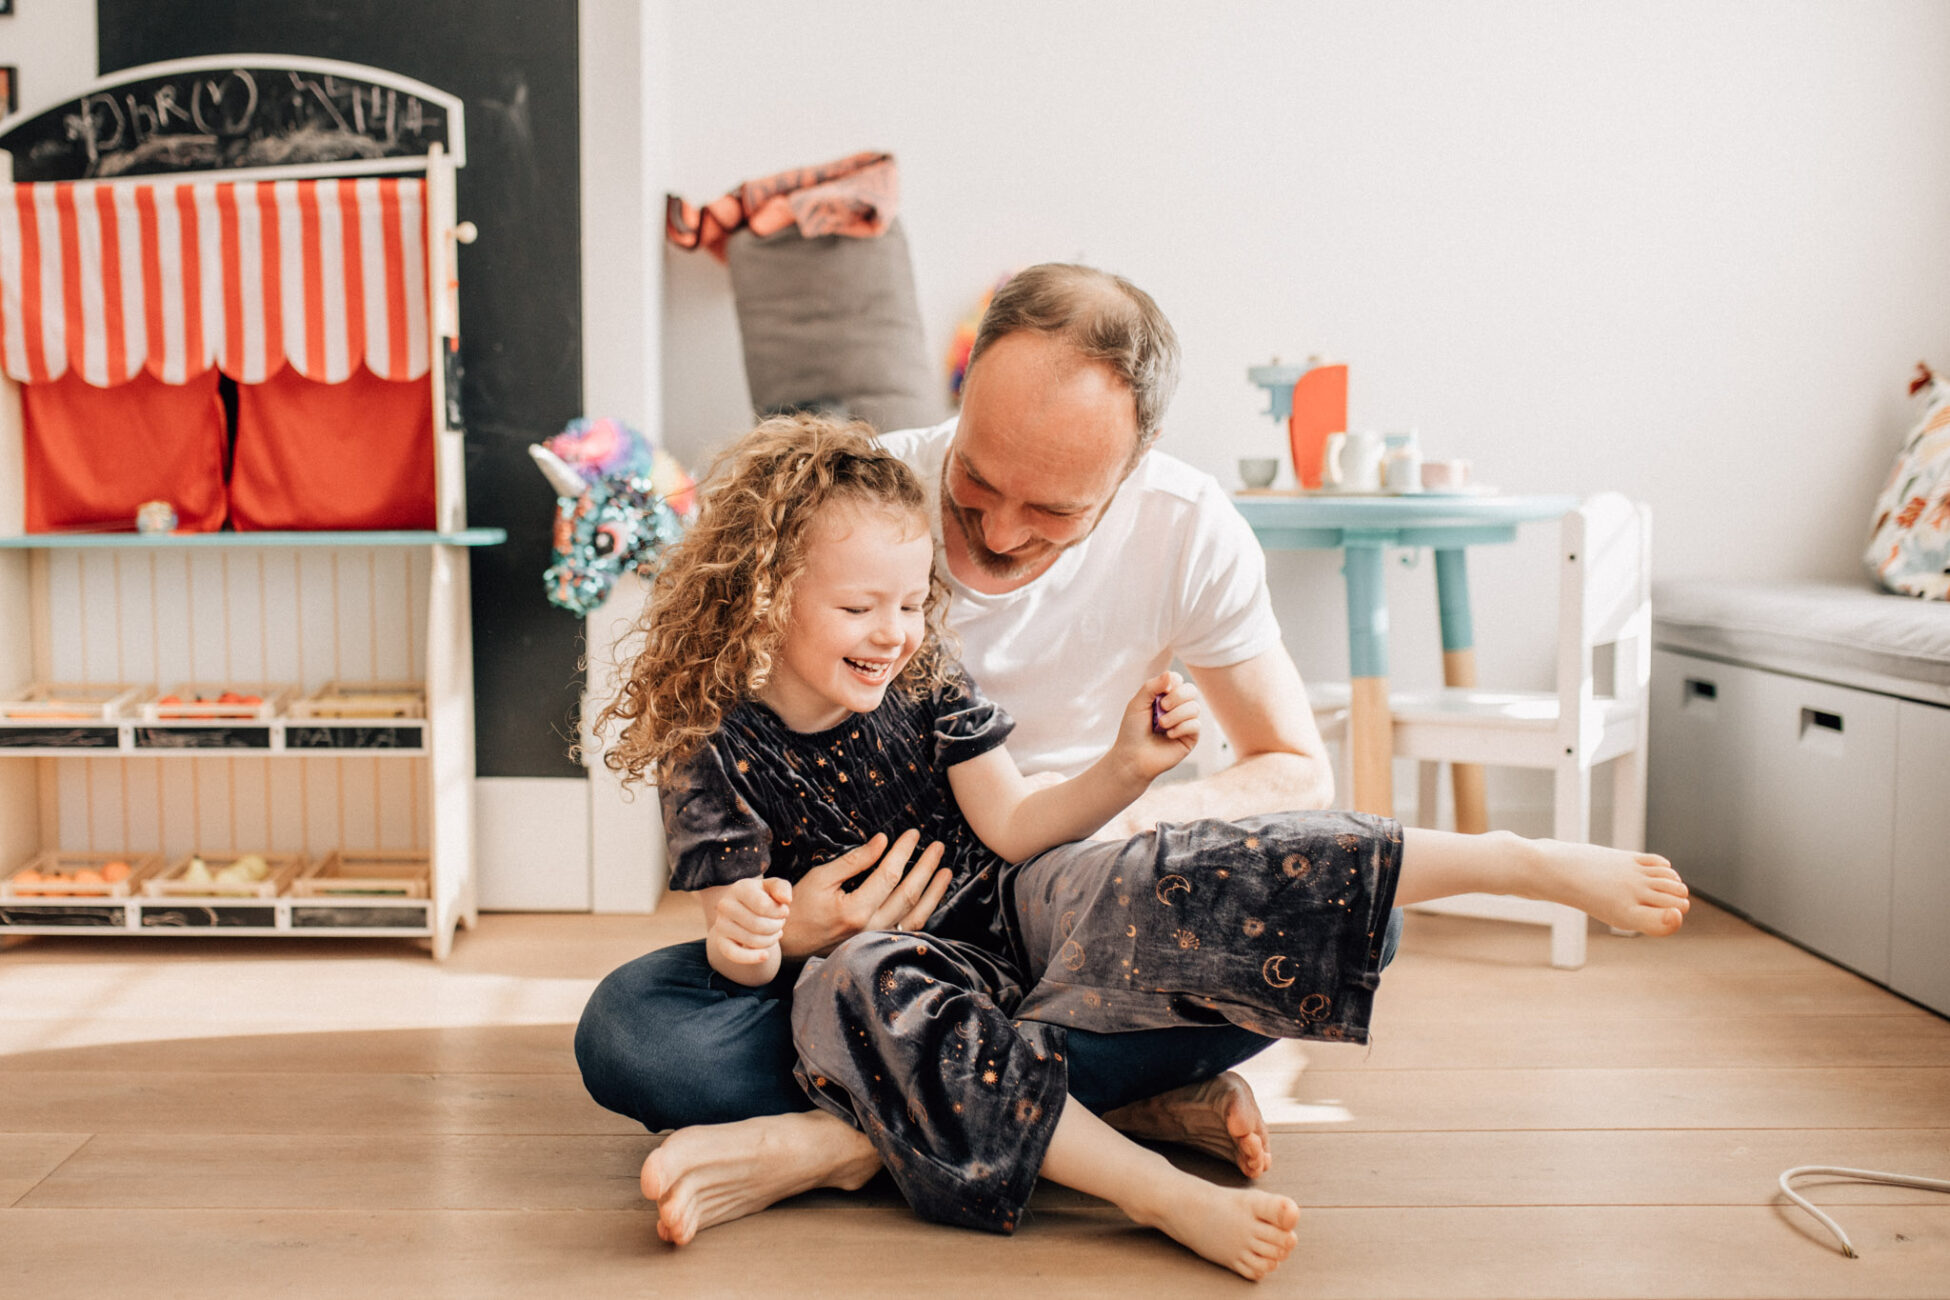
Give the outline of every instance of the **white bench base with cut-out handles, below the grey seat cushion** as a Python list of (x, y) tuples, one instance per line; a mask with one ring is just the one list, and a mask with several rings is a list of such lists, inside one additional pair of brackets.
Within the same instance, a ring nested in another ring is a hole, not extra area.
[(1654, 651), (1648, 846), (1698, 893), (1950, 1012), (1950, 709)]

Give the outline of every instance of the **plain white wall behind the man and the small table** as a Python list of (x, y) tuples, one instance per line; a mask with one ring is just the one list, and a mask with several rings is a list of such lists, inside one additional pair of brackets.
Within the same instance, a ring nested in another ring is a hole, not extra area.
[[(1950, 6), (747, 0), (669, 37), (673, 189), (893, 150), (932, 353), (1012, 267), (1129, 275), (1186, 347), (1164, 446), (1227, 483), (1283, 444), (1246, 366), (1324, 349), (1357, 427), (1650, 501), (1659, 577), (1847, 575), (1909, 370), (1950, 366)], [(722, 267), (667, 273), (696, 458), (749, 415), (737, 329)], [(1470, 557), (1486, 680), (1548, 682), (1533, 534)], [(1338, 559), (1271, 573), (1344, 676)], [(1437, 680), (1427, 561), (1392, 612)]]

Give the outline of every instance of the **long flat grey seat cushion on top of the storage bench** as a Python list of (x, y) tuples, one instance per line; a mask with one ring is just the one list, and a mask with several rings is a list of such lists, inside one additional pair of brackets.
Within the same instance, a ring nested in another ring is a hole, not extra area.
[(1950, 700), (1950, 604), (1866, 583), (1658, 583), (1654, 641), (1778, 672)]

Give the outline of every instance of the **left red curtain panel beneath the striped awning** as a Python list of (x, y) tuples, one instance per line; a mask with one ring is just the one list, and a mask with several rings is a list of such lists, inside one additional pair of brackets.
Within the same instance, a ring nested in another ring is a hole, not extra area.
[(96, 388), (76, 370), (21, 384), (27, 532), (135, 530), (168, 501), (183, 532), (224, 522), (224, 403), (216, 370), (185, 384), (136, 374)]

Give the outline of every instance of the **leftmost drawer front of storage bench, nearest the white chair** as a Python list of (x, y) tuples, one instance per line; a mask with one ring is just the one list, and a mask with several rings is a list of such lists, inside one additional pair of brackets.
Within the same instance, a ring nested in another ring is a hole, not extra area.
[(1751, 807), (1757, 737), (1753, 669), (1652, 653), (1646, 848), (1687, 885), (1747, 910), (1737, 811)]

